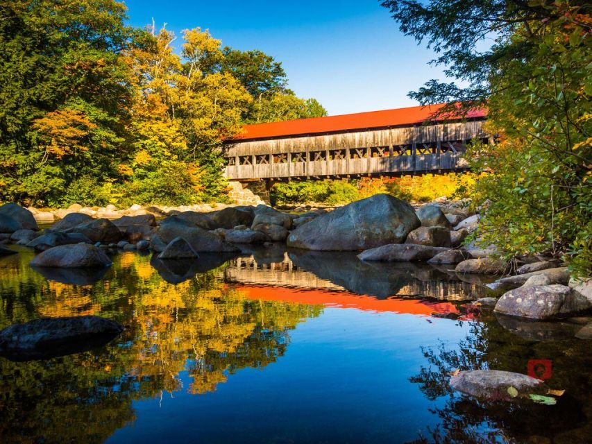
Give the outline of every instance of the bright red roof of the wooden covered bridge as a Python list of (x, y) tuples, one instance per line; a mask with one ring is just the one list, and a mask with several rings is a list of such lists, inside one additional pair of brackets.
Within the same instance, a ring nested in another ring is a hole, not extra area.
[[(405, 126), (423, 123), (430, 120), (441, 105), (412, 106), (396, 110), (357, 112), (340, 116), (314, 117), (312, 119), (287, 120), (272, 123), (245, 125), (243, 133), (233, 139), (268, 139), (319, 133), (338, 133), (341, 131), (365, 130), (370, 128), (387, 128), (389, 126)], [(475, 110), (468, 113), (468, 118), (480, 118), (487, 115), (486, 110)], [(452, 119), (454, 117), (447, 117)], [(439, 119), (443, 120), (443, 118)]]

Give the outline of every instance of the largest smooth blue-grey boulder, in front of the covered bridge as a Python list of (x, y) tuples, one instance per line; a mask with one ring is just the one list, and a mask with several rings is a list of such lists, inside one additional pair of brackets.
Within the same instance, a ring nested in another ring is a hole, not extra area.
[(400, 244), (419, 225), (407, 202), (376, 194), (300, 225), (289, 235), (287, 245), (306, 250), (366, 250)]

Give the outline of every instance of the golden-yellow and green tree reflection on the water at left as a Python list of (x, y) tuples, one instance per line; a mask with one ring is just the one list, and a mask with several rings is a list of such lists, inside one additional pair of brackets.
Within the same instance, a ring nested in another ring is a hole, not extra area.
[[(133, 253), (117, 256), (105, 280), (92, 284), (88, 273), (46, 280), (27, 266), (30, 259), (22, 251), (1, 264), (0, 327), (98, 314), (126, 331), (92, 352), (24, 363), (0, 359), (3, 443), (100, 443), (134, 420), (134, 400), (214, 391), (228, 374), (276, 361), (289, 330), (322, 309), (245, 298), (217, 278), (220, 268), (169, 284), (150, 257)], [(57, 282), (62, 278), (66, 283)], [(188, 387), (181, 371), (189, 373)]]

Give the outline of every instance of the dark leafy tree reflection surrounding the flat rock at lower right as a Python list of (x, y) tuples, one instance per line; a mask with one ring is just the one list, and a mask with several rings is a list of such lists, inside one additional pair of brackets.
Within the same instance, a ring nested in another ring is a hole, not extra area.
[[(521, 330), (528, 330), (527, 321)], [(563, 333), (563, 332), (561, 332)], [(440, 343), (422, 348), (428, 364), (410, 377), (426, 398), (434, 400), (433, 413), (441, 425), (413, 443), (580, 443), (591, 436), (589, 399), (592, 385), (589, 343), (577, 339), (524, 339), (507, 330), (491, 314), (471, 323), (466, 338), (457, 344)], [(454, 393), (450, 375), (454, 370), (509, 370), (527, 373), (529, 359), (551, 359), (552, 388), (566, 389), (555, 406), (533, 402), (477, 400)], [(574, 369), (578, 369), (574, 372)], [(582, 371), (583, 370), (583, 371)], [(441, 402), (443, 400), (443, 402)], [(440, 401), (440, 402), (437, 402)]]

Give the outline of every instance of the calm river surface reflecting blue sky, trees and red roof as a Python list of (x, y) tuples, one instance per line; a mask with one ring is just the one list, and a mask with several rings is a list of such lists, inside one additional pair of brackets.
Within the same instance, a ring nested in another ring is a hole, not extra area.
[[(33, 270), (12, 248), (0, 328), (98, 314), (126, 331), (76, 355), (0, 358), (2, 443), (592, 442), (591, 342), (575, 339), (589, 320), (480, 313), (478, 278), (282, 248)], [(448, 388), (456, 368), (526, 373), (529, 359), (552, 361), (557, 405)]]

